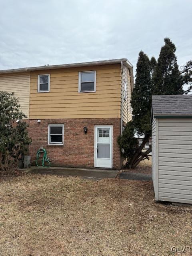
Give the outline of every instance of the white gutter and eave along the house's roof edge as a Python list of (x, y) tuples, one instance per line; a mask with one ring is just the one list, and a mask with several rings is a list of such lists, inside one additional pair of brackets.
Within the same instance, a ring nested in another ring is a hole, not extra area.
[(130, 69), (133, 68), (132, 64), (128, 61), (127, 58), (122, 58), (122, 59), (113, 59), (113, 60), (98, 60), (98, 61), (91, 61), (91, 62), (70, 63), (70, 64), (62, 64), (62, 65), (38, 66), (38, 67), (31, 67), (31, 68), (7, 69), (7, 70), (0, 70), (0, 74), (29, 72), (34, 70), (50, 70), (50, 69), (57, 69), (57, 68), (74, 68), (74, 67), (82, 67), (82, 66), (118, 64), (122, 62), (126, 66), (128, 66), (128, 68)]

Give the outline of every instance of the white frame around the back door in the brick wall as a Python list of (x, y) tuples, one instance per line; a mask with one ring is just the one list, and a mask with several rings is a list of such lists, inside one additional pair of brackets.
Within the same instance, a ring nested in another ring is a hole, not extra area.
[(111, 156), (111, 167), (113, 168), (113, 126), (112, 125), (95, 125), (94, 126), (94, 167), (95, 168), (106, 168), (106, 167), (96, 167), (96, 147), (97, 147), (97, 128), (110, 128), (110, 156)]

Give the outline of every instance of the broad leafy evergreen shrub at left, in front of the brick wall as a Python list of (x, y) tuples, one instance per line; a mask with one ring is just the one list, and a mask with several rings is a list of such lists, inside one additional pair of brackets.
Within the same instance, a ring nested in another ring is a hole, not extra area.
[(14, 92), (0, 91), (0, 170), (8, 171), (18, 161), (25, 145), (31, 143), (26, 122), (15, 124), (15, 120), (24, 117)]

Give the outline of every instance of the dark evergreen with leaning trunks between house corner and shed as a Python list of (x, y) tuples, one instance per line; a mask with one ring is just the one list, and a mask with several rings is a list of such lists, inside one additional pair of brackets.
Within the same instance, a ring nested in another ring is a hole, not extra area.
[[(140, 161), (148, 159), (148, 153), (151, 152), (151, 147), (146, 152), (142, 152), (142, 149), (151, 136), (151, 74), (155, 67), (154, 58), (152, 64), (148, 56), (141, 51), (137, 62), (135, 86), (132, 92), (132, 121), (128, 122), (122, 136), (118, 139), (122, 155), (127, 160), (127, 168), (135, 168)], [(135, 133), (144, 135), (144, 140), (140, 146), (137, 138), (135, 138)]]

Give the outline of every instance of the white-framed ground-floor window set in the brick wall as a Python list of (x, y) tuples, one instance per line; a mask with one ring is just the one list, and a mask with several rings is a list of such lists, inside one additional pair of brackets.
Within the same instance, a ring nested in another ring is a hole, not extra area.
[(48, 145), (63, 145), (64, 124), (48, 125)]

